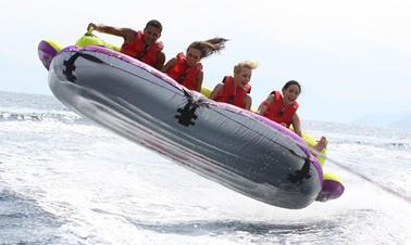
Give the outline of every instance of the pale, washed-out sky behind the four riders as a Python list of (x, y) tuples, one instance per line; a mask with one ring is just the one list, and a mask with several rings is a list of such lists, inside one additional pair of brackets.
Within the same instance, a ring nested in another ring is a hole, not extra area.
[(70, 46), (90, 22), (138, 30), (157, 18), (166, 60), (196, 40), (229, 39), (225, 50), (202, 61), (209, 88), (238, 62), (257, 61), (253, 107), (297, 80), (303, 120), (411, 113), (410, 13), (409, 0), (1, 1), (0, 90), (52, 94), (37, 54), (42, 39)]

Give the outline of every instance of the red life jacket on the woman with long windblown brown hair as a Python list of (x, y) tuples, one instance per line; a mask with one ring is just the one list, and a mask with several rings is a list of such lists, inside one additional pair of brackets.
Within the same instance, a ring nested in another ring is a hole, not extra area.
[(169, 69), (167, 75), (187, 89), (197, 90), (197, 77), (202, 70), (201, 63), (188, 66), (184, 53), (178, 53), (174, 66)]

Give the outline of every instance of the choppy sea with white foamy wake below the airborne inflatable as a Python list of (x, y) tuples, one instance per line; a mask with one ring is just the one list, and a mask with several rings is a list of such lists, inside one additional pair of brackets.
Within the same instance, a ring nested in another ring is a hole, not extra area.
[(411, 131), (303, 121), (344, 195), (289, 210), (65, 108), (0, 92), (0, 244), (411, 244)]

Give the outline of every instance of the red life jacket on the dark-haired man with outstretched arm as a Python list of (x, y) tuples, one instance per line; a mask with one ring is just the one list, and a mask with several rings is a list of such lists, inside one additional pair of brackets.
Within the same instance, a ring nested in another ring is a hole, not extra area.
[(120, 52), (153, 66), (159, 60), (159, 52), (162, 51), (163, 48), (164, 46), (161, 41), (146, 47), (145, 35), (139, 30), (136, 33), (133, 41), (123, 43)]

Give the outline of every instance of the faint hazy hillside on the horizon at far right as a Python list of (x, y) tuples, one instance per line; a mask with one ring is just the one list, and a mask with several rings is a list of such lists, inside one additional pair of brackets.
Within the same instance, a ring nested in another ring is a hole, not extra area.
[(356, 119), (353, 122), (377, 127), (411, 129), (411, 112), (398, 114), (370, 114)]

